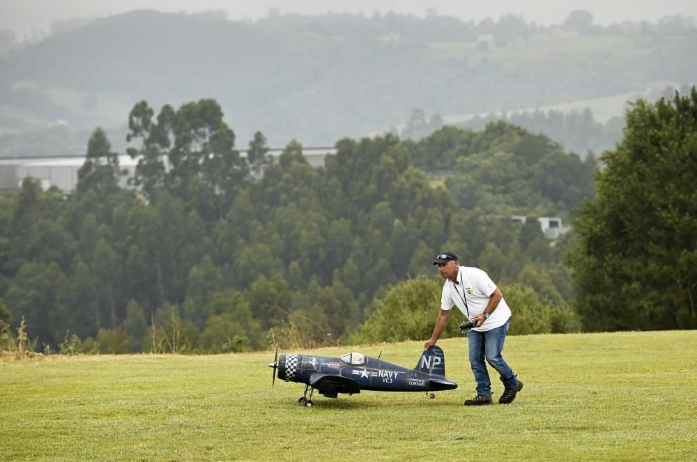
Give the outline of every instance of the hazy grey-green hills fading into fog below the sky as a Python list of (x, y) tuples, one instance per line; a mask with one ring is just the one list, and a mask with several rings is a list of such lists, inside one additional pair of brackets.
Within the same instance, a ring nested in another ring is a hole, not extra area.
[(6, 52), (0, 155), (80, 154), (86, 137), (75, 133), (97, 125), (121, 148), (128, 111), (142, 99), (157, 110), (215, 98), (240, 147), (256, 130), (273, 146), (293, 138), (327, 146), (404, 124), (415, 108), (446, 120), (574, 102), (581, 109), (585, 100), (655, 95), (697, 75), (689, 18), (599, 26), (582, 13), (558, 26), (436, 14), (105, 17)]

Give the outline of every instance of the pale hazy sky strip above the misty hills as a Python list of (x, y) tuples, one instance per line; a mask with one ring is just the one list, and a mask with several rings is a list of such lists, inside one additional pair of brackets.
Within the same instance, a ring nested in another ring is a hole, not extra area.
[(423, 16), (427, 9), (462, 20), (498, 19), (515, 13), (538, 24), (558, 24), (569, 11), (588, 10), (599, 24), (624, 20), (655, 22), (665, 15), (697, 17), (695, 0), (0, 0), (0, 29), (13, 29), (21, 39), (32, 29), (48, 31), (51, 22), (75, 17), (92, 18), (150, 8), (162, 11), (196, 12), (225, 10), (232, 20), (256, 20), (270, 8), (281, 13), (319, 14), (375, 11)]

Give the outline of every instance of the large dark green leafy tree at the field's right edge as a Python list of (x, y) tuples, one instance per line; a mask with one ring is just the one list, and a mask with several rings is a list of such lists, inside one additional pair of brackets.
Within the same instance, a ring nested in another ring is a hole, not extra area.
[(574, 222), (576, 307), (590, 330), (697, 327), (697, 91), (627, 111)]

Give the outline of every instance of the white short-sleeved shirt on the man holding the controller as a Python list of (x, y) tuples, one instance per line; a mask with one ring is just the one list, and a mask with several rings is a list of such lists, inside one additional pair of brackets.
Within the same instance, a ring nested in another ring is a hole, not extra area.
[[(496, 291), (496, 284), (493, 284), (489, 275), (479, 268), (461, 266), (457, 273), (457, 282), (458, 284), (454, 284), (450, 279), (445, 279), (443, 295), (441, 295), (441, 309), (447, 311), (456, 306), (468, 319), (484, 313), (484, 309), (489, 305), (491, 294)], [(467, 305), (465, 305), (465, 300), (467, 300)], [(486, 332), (496, 329), (504, 325), (510, 317), (511, 309), (502, 297), (489, 319), (473, 330)]]

